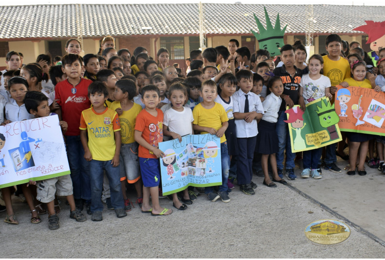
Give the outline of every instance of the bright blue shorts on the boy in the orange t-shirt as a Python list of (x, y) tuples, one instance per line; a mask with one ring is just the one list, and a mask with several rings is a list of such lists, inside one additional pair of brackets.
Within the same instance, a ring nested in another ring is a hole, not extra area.
[(139, 157), (140, 173), (142, 175), (143, 186), (156, 187), (160, 181), (159, 159)]

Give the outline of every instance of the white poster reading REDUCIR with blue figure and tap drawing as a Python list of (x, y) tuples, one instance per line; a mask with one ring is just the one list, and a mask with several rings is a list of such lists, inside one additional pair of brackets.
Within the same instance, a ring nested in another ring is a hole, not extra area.
[(70, 174), (58, 116), (0, 126), (0, 188)]

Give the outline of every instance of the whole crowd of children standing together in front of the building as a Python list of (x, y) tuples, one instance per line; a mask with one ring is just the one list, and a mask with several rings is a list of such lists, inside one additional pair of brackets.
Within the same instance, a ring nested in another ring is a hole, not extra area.
[[(59, 228), (60, 207), (55, 195), (66, 196), (70, 217), (77, 221), (87, 219), (82, 213), (84, 205), (92, 220), (102, 220), (102, 201), (108, 209), (115, 209), (118, 218), (125, 217), (133, 205), (127, 197), (127, 188), (132, 186), (143, 213), (170, 215), (172, 209), (159, 203), (159, 158), (166, 166), (170, 157), (158, 144), (194, 133), (220, 138), (220, 147), (211, 152), (220, 149), (222, 184), (197, 191), (189, 187), (170, 195), (176, 209), (187, 209), (199, 193), (211, 201), (229, 202), (235, 182), (243, 193), (254, 195), (253, 173), (262, 172), (258, 176), (264, 177), (263, 184), (268, 187), (286, 185), (284, 173), (289, 180), (297, 178), (288, 131), (288, 122), (295, 124), (296, 118), (288, 120), (288, 106), (298, 104), (305, 110), (313, 100), (328, 97), (332, 101), (339, 84), (385, 90), (385, 51), (379, 54), (379, 75), (368, 75), (359, 54), (343, 57), (341, 38), (334, 34), (326, 38), (328, 54), (315, 54), (308, 63), (304, 63), (305, 47), (297, 42), (282, 46), (280, 57), (271, 58), (266, 50), (250, 54), (234, 39), (228, 47), (193, 50), (186, 60), (190, 65), (187, 77), (177, 66), (169, 66), (165, 48), (159, 49), (155, 61), (143, 47), (137, 47), (133, 55), (128, 49), (116, 51), (114, 47), (114, 39), (105, 37), (98, 55), (81, 57), (80, 42), (71, 39), (66, 44), (68, 54), (56, 65), (47, 55), (22, 65), (18, 52), (7, 54), (0, 90), (1, 123), (57, 114), (71, 169), (70, 176), (18, 185), (18, 193), (22, 189), (28, 202), (32, 223), (41, 221), (39, 213), (46, 212), (42, 204), (46, 203), (49, 228)], [(347, 97), (340, 94), (337, 98), (343, 108)], [(360, 148), (358, 173), (365, 175), (366, 152), (373, 136), (346, 136), (350, 149), (347, 174), (355, 174)], [(377, 140), (381, 164), (383, 143), (382, 138)], [(324, 160), (321, 154), (322, 148), (303, 152), (302, 178), (322, 178), (321, 163), (341, 172), (335, 164), (335, 144), (326, 147)], [(212, 163), (208, 156), (208, 167)], [(18, 224), (12, 189), (1, 190), (7, 211), (4, 221)]]

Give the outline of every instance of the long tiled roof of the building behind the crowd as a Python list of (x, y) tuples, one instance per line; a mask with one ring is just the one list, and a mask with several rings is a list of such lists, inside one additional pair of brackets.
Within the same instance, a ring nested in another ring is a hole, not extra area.
[[(279, 13), (286, 33), (306, 32), (307, 5), (205, 3), (206, 34), (257, 31), (255, 13)], [(314, 33), (358, 33), (364, 20), (384, 20), (385, 6), (313, 5)], [(82, 17), (82, 18), (80, 18)], [(77, 26), (77, 21), (81, 24)], [(81, 29), (80, 29), (81, 28)], [(199, 34), (198, 4), (49, 4), (0, 6), (0, 38)]]

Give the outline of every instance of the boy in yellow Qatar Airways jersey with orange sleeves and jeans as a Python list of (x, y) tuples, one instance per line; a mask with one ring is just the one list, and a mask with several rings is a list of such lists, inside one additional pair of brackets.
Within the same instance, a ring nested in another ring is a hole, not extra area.
[(103, 204), (100, 200), (103, 169), (110, 183), (111, 204), (115, 209), (116, 217), (127, 216), (120, 184), (120, 123), (117, 113), (104, 106), (107, 97), (108, 90), (104, 83), (100, 81), (91, 83), (88, 87), (88, 98), (92, 107), (83, 110), (80, 118), (80, 140), (84, 148), (84, 158), (90, 162), (91, 220), (93, 221), (103, 220)]

